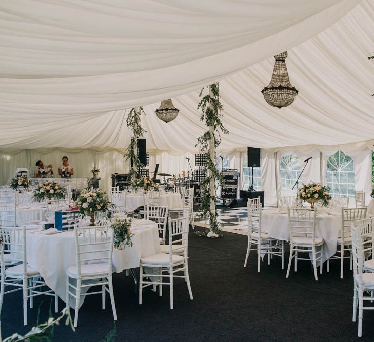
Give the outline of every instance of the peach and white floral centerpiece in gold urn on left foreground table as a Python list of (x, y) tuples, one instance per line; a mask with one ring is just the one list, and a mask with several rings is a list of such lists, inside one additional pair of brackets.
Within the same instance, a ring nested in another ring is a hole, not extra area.
[(79, 206), (79, 212), (82, 216), (91, 217), (91, 226), (95, 224), (94, 214), (96, 211), (109, 213), (114, 207), (114, 203), (110, 202), (108, 194), (102, 190), (83, 191), (76, 200)]

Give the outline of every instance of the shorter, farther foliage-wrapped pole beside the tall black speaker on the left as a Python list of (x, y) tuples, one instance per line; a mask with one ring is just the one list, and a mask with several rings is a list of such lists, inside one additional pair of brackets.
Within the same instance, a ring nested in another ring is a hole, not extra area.
[(127, 114), (126, 119), (126, 125), (132, 131), (132, 138), (124, 155), (125, 161), (130, 160), (130, 171), (128, 174), (128, 177), (130, 179), (136, 178), (136, 170), (139, 170), (141, 167), (144, 167), (144, 165), (139, 160), (139, 151), (137, 150), (137, 139), (141, 138), (145, 133), (147, 133), (147, 131), (140, 124), (141, 114), (145, 115), (143, 107), (134, 107), (131, 108), (131, 110)]

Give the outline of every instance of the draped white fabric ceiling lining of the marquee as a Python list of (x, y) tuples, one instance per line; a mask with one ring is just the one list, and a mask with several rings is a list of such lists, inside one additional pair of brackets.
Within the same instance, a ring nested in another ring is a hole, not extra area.
[[(374, 0), (2, 2), (0, 148), (124, 148), (125, 108), (145, 105), (148, 150), (193, 152), (216, 81), (222, 150), (371, 140), (373, 18)], [(299, 95), (280, 110), (261, 89), (284, 50)], [(154, 110), (169, 97), (166, 124)]]

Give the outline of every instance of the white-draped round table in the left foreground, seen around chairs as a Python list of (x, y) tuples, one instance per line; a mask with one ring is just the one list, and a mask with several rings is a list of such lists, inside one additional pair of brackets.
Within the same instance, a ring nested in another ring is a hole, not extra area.
[[(139, 267), (140, 258), (161, 253), (156, 223), (133, 219), (131, 225), (132, 247), (113, 249), (113, 271)], [(27, 234), (27, 263), (38, 270), (46, 284), (58, 297), (66, 301), (66, 270), (76, 264), (74, 231), (45, 235)], [(82, 298), (82, 304), (85, 297)], [(71, 301), (73, 307), (74, 303)]]

